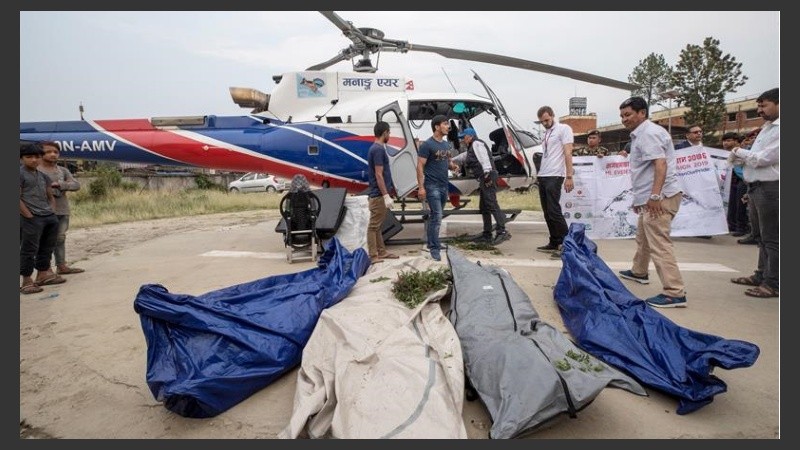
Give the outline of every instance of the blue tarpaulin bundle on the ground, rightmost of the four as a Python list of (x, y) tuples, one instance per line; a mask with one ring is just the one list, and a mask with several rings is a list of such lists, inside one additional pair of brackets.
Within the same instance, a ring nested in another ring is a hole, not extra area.
[(715, 366), (752, 366), (760, 350), (681, 327), (634, 296), (597, 255), (597, 245), (573, 223), (564, 240), (564, 263), (553, 292), (564, 325), (577, 344), (645, 386), (678, 397), (688, 414), (727, 391)]

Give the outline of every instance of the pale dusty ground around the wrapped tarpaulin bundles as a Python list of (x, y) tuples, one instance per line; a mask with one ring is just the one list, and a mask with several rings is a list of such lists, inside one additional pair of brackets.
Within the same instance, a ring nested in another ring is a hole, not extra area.
[[(296, 370), (217, 417), (174, 414), (146, 385), (147, 347), (133, 300), (145, 283), (201, 294), (313, 267), (311, 262), (286, 262), (283, 241), (274, 231), (278, 217), (277, 211), (250, 211), (70, 230), (68, 259), (86, 272), (67, 275), (67, 283), (46, 286), (39, 294), (20, 295), (20, 438), (275, 438), (292, 414)], [(398, 236), (421, 236), (420, 227), (409, 226)], [(448, 233), (474, 232), (475, 227), (480, 228), (479, 222), (451, 223)], [(509, 230), (514, 237), (501, 244), (497, 264), (518, 280), (543, 320), (561, 324), (552, 298), (560, 261), (534, 249), (546, 239), (540, 215), (523, 214)], [(631, 241), (603, 240), (598, 246), (613, 269), (628, 267)], [(214, 251), (246, 255), (208, 255)], [(414, 258), (420, 256), (420, 245), (397, 245), (392, 251)], [(676, 251), (681, 263), (705, 268), (684, 273), (692, 289), (691, 306), (663, 314), (690, 329), (757, 344), (761, 355), (756, 364), (718, 370), (728, 392), (690, 415), (675, 414), (675, 399), (652, 390), (639, 397), (605, 389), (577, 419), (560, 418), (531, 438), (780, 437), (779, 302), (754, 301), (730, 283), (732, 276), (752, 270), (757, 252), (737, 245), (731, 236), (679, 239)], [(658, 289), (627, 286), (640, 298)], [(486, 439), (491, 422), (480, 402), (466, 402), (463, 417), (471, 439)]]

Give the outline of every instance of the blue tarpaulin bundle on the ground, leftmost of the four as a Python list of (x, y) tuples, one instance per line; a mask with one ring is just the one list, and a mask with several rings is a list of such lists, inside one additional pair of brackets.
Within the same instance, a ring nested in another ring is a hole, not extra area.
[(147, 385), (185, 417), (213, 417), (300, 363), (322, 310), (366, 273), (362, 248), (333, 238), (317, 267), (201, 295), (159, 284), (139, 289), (133, 307), (147, 341)]

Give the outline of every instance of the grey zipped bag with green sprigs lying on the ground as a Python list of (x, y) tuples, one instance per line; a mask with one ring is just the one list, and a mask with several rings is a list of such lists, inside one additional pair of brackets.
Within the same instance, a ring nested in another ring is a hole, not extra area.
[(574, 415), (606, 386), (647, 395), (632, 378), (543, 322), (508, 272), (473, 263), (452, 246), (447, 256), (453, 273), (449, 318), (466, 376), (492, 417), (491, 438), (519, 437), (559, 414)]

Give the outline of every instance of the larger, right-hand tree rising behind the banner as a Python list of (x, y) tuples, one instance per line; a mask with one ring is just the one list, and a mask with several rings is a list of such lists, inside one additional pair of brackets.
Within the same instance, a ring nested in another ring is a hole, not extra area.
[(703, 128), (703, 142), (712, 138), (725, 115), (725, 95), (743, 86), (742, 63), (729, 54), (722, 54), (719, 40), (707, 37), (703, 46), (687, 45), (681, 50), (678, 64), (672, 72), (672, 83), (681, 93), (678, 105), (689, 108), (686, 123)]

